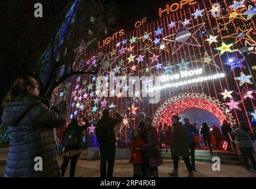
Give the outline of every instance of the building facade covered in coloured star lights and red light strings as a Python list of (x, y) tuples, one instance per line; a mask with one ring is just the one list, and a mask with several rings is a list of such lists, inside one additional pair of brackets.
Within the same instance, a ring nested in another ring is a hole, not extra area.
[(120, 141), (129, 141), (139, 112), (152, 116), (156, 127), (170, 125), (174, 114), (202, 109), (219, 125), (245, 120), (254, 129), (256, 2), (181, 2), (159, 7), (153, 22), (141, 19), (133, 31), (98, 41), (93, 52), (81, 53), (81, 43), (76, 66), (100, 69), (72, 78), (69, 119), (85, 115), (96, 122), (105, 107), (114, 107), (124, 116), (116, 127)]

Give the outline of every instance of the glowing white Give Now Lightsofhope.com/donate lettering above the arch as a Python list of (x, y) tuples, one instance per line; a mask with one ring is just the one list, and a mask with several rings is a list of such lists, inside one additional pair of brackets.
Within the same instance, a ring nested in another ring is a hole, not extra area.
[[(200, 76), (201, 74), (203, 74), (202, 68), (196, 70), (184, 70), (180, 71), (180, 73), (172, 75), (165, 74), (163, 76), (156, 77), (155, 87), (148, 87), (146, 89), (146, 92), (154, 92), (156, 90), (168, 89), (171, 87), (179, 87), (187, 84), (206, 82), (209, 80), (221, 79), (225, 77), (224, 73), (217, 73), (209, 76)], [(193, 77), (193, 79), (191, 77)]]

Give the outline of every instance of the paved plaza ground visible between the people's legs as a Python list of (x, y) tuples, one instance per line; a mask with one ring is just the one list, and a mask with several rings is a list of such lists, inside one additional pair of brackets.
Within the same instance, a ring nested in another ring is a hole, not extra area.
[[(7, 149), (0, 148), (0, 177), (4, 175), (5, 160)], [(84, 157), (81, 157), (84, 158)], [(187, 177), (187, 171), (183, 161), (180, 161), (179, 177)], [(159, 177), (168, 177), (168, 172), (173, 169), (172, 160), (165, 160), (164, 164), (159, 166)], [(242, 166), (220, 165), (220, 171), (212, 171), (212, 164), (196, 162), (197, 171), (195, 177), (256, 177), (256, 172), (249, 172)], [(117, 159), (114, 167), (114, 177), (132, 177), (133, 168), (128, 159)], [(69, 169), (66, 170), (66, 176), (69, 176)], [(87, 161), (79, 159), (76, 166), (75, 177), (100, 177), (100, 161)]]

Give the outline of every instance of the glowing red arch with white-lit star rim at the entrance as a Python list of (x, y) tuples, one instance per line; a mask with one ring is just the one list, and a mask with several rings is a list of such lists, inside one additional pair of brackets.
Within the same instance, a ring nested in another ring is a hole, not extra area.
[(166, 100), (156, 110), (153, 118), (153, 126), (158, 125), (160, 122), (163, 125), (164, 123), (171, 125), (172, 115), (178, 115), (184, 110), (192, 108), (203, 109), (212, 113), (220, 123), (223, 120), (228, 120), (231, 125), (235, 124), (235, 119), (233, 119), (228, 108), (222, 102), (215, 99), (215, 97), (210, 97), (203, 93), (184, 93)]

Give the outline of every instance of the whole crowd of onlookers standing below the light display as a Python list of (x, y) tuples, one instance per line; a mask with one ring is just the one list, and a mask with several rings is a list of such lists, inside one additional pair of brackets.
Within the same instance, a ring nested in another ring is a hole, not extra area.
[[(40, 86), (36, 79), (22, 76), (16, 80), (3, 102), (2, 122), (9, 126), (9, 152), (5, 177), (64, 177), (70, 163), (70, 177), (75, 176), (76, 163), (82, 152), (82, 132), (90, 125), (87, 118), (81, 118), (84, 125), (73, 118), (68, 123), (68, 103), (62, 101), (57, 107), (50, 107), (49, 101), (39, 97)], [(138, 115), (139, 122), (130, 139), (130, 163), (133, 164), (133, 177), (158, 177), (158, 167), (163, 164), (161, 148), (171, 151), (174, 162), (172, 177), (178, 176), (178, 161), (185, 162), (188, 177), (194, 177), (195, 149), (200, 148), (200, 139), (204, 148), (222, 148), (223, 142), (230, 148), (229, 135), (236, 138), (236, 143), (244, 157), (247, 170), (256, 170), (252, 155), (253, 146), (249, 128), (240, 122), (233, 130), (225, 120), (221, 126), (203, 123), (201, 128), (190, 123), (184, 124), (178, 115), (172, 116), (172, 125), (160, 122), (152, 125), (152, 119), (145, 113)], [(123, 117), (114, 109), (104, 109), (97, 122), (95, 135), (100, 146), (101, 177), (113, 177), (116, 154), (116, 135), (114, 128), (123, 121)], [(56, 128), (57, 129), (56, 131)], [(211, 131), (212, 130), (212, 131)], [(201, 135), (201, 136), (200, 136)], [(57, 145), (59, 144), (59, 145)], [(62, 165), (59, 166), (59, 154), (63, 152)], [(43, 170), (36, 171), (34, 158), (43, 159)], [(191, 157), (191, 159), (190, 159)]]

